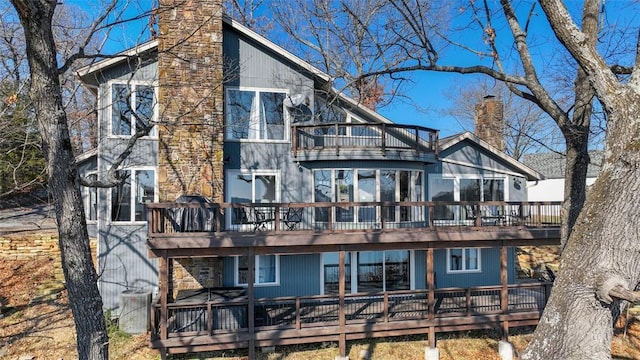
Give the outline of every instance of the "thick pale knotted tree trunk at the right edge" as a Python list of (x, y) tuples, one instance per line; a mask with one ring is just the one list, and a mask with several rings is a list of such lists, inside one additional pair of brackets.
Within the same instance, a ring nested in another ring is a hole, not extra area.
[(640, 276), (640, 96), (620, 96), (609, 113), (605, 162), (561, 257), (549, 303), (523, 359), (609, 359), (610, 290)]

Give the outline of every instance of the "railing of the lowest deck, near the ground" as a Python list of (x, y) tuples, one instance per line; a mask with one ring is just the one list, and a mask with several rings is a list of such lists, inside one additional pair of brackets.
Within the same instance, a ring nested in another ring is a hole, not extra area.
[[(381, 293), (349, 294), (344, 300), (346, 324), (389, 323), (433, 318), (473, 317), (488, 314), (542, 312), (550, 295), (551, 283), (509, 285), (507, 302), (501, 304), (501, 286), (405, 290)], [(256, 299), (254, 328), (303, 329), (338, 326), (340, 301), (337, 295)], [(215, 335), (246, 330), (248, 306), (243, 298), (202, 303), (169, 303), (167, 334)], [(503, 310), (506, 308), (506, 312)], [(430, 311), (430, 309), (433, 309)], [(153, 335), (160, 334), (160, 305), (152, 311)]]

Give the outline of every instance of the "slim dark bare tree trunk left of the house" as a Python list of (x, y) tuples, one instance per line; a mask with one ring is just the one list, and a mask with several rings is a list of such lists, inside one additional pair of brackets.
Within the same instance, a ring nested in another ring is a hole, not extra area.
[(30, 97), (47, 159), (62, 268), (77, 333), (80, 359), (108, 359), (108, 338), (91, 259), (80, 179), (62, 105), (51, 19), (56, 1), (11, 0), (24, 28), (31, 71)]

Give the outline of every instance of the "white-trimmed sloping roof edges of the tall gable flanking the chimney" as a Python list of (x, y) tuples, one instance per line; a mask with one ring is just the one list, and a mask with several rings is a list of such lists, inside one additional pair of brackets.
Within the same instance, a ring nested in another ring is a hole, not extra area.
[[(284, 48), (282, 48), (281, 46), (277, 45), (273, 41), (271, 41), (271, 40), (267, 39), (266, 37), (256, 33), (255, 31), (253, 31), (253, 30), (249, 29), (248, 27), (242, 25), (241, 23), (239, 23), (236, 20), (233, 20), (231, 17), (229, 17), (227, 15), (223, 15), (222, 21), (223, 21), (224, 24), (226, 24), (227, 26), (231, 27), (233, 30), (239, 32), (243, 36), (245, 36), (245, 37), (257, 42), (258, 44), (264, 46), (265, 48), (269, 49), (270, 51), (273, 51), (278, 56), (281, 56), (282, 58), (285, 58), (285, 59), (291, 61), (296, 66), (299, 66), (301, 69), (309, 72), (318, 82), (320, 82), (322, 84), (331, 84), (333, 79), (331, 78), (331, 76), (329, 74), (327, 74), (327, 73), (323, 72), (322, 70), (318, 69), (317, 67), (309, 64), (307, 61), (305, 61), (302, 58), (294, 55), (293, 53), (285, 50)], [(109, 58), (102, 59), (102, 60), (97, 61), (97, 62), (95, 62), (93, 64), (83, 66), (83, 67), (79, 68), (76, 71), (76, 73), (77, 73), (78, 77), (80, 79), (82, 79), (82, 78), (85, 78), (87, 75), (90, 75), (90, 74), (95, 73), (97, 71), (102, 71), (102, 70), (105, 70), (105, 69), (107, 69), (109, 67), (119, 65), (120, 63), (126, 61), (128, 58), (139, 56), (139, 55), (141, 55), (141, 54), (143, 54), (145, 52), (150, 52), (150, 51), (157, 50), (157, 48), (158, 48), (158, 40), (154, 39), (154, 40), (142, 43), (142, 44), (140, 44), (140, 45), (138, 45), (138, 46), (136, 46), (134, 48), (127, 49), (127, 50), (122, 51), (122, 52), (120, 52), (118, 54), (110, 56)], [(330, 91), (334, 95), (337, 95), (340, 100), (342, 100), (345, 103), (357, 108), (358, 111), (362, 112), (366, 116), (368, 116), (368, 117), (370, 117), (372, 119), (375, 119), (376, 121), (379, 121), (379, 122), (392, 123), (391, 120), (389, 120), (386, 117), (382, 116), (378, 112), (376, 112), (376, 111), (374, 111), (372, 109), (369, 109), (368, 107), (362, 105), (360, 102), (352, 99), (351, 97), (343, 94), (341, 91), (337, 90), (336, 88), (330, 87)]]

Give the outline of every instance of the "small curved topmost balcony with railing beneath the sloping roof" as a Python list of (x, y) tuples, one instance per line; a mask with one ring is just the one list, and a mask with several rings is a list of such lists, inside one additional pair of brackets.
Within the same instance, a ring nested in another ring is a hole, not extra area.
[(433, 163), (438, 130), (413, 125), (334, 123), (293, 127), (298, 161), (395, 160)]

